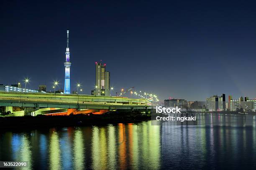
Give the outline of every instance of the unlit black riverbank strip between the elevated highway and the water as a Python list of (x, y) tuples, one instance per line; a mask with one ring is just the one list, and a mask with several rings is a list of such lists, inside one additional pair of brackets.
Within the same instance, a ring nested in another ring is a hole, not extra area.
[(0, 117), (0, 129), (69, 127), (86, 125), (108, 125), (133, 123), (150, 120), (150, 114), (103, 114), (103, 115), (69, 115), (69, 116), (20, 116)]

